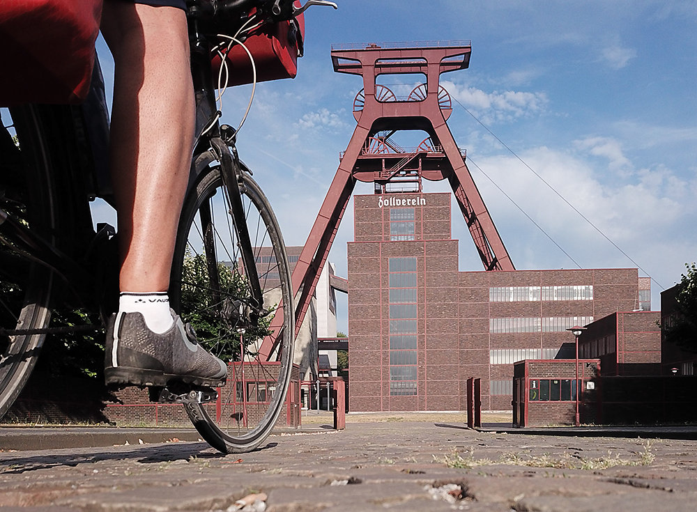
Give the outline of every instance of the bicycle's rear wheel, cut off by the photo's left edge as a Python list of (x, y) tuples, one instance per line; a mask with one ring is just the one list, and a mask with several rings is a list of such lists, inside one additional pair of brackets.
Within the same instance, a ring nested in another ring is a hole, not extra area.
[[(0, 210), (54, 242), (59, 217), (56, 162), (43, 108), (2, 111)], [(15, 242), (0, 234), (0, 417), (19, 396), (36, 364), (46, 335), (23, 332), (48, 326), (53, 284), (50, 270), (26, 258)]]

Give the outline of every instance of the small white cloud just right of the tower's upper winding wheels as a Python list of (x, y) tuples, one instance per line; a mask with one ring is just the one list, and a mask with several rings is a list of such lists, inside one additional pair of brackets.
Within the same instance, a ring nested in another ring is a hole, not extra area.
[(493, 91), (487, 93), (475, 87), (459, 86), (444, 82), (445, 90), (484, 123), (512, 121), (523, 116), (537, 114), (544, 110), (547, 98), (544, 93), (520, 91)]

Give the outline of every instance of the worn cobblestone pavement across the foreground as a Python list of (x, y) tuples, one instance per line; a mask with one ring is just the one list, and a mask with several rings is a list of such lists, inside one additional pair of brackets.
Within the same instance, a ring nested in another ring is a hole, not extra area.
[[(0, 433), (1, 435), (1, 433)], [(0, 452), (21, 510), (694, 511), (697, 441), (482, 433), (426, 421), (202, 442)]]

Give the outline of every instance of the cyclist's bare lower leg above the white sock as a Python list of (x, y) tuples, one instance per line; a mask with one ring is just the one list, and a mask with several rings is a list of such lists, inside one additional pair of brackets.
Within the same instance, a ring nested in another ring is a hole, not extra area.
[(105, 2), (114, 56), (110, 164), (121, 291), (169, 287), (194, 132), (189, 42), (181, 9)]

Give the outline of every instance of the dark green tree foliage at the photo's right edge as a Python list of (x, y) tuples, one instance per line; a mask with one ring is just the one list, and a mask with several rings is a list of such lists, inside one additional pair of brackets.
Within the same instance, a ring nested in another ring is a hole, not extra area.
[(661, 327), (668, 343), (697, 352), (697, 263), (685, 263), (685, 267), (687, 274), (677, 284), (675, 314)]

